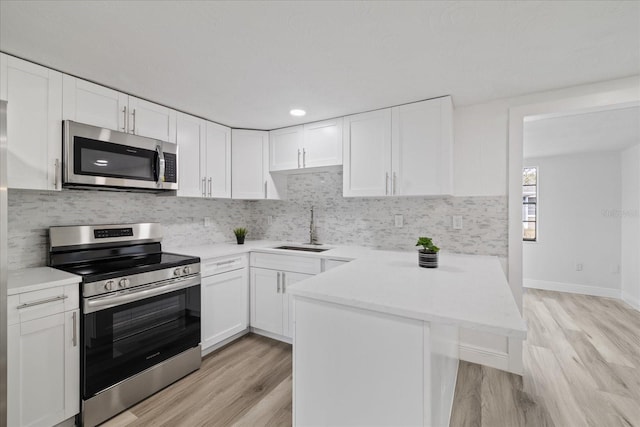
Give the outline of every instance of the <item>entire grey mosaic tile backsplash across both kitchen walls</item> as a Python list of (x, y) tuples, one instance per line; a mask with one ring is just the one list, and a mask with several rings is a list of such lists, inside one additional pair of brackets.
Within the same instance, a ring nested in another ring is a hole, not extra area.
[[(11, 189), (9, 268), (45, 265), (47, 231), (54, 225), (160, 222), (171, 247), (233, 241), (231, 230), (239, 226), (249, 229), (250, 240), (307, 242), (311, 205), (323, 243), (415, 250), (418, 236), (430, 236), (446, 251), (507, 256), (506, 196), (343, 198), (342, 172), (335, 171), (289, 176), (288, 196), (249, 202)], [(403, 227), (395, 227), (395, 215), (403, 216)], [(453, 229), (453, 215), (462, 216), (462, 230)]]

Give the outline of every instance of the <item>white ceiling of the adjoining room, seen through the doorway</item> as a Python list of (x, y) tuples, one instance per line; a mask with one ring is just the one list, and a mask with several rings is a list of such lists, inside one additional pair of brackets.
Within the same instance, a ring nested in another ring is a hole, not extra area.
[(524, 122), (524, 158), (618, 151), (640, 144), (640, 107)]

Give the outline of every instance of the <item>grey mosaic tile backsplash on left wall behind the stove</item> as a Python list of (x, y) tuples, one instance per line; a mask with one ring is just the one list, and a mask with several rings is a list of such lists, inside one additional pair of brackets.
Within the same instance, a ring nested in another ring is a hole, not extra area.
[(242, 200), (90, 190), (10, 189), (8, 199), (10, 269), (46, 265), (50, 226), (160, 222), (163, 244), (196, 246), (235, 240), (232, 230), (247, 224), (250, 208)]

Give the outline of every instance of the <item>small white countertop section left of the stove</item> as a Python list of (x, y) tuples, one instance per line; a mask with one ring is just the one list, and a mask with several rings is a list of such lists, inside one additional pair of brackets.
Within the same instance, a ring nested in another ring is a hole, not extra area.
[(50, 267), (11, 270), (9, 271), (7, 295), (39, 291), (41, 289), (55, 288), (56, 286), (73, 285), (81, 281), (82, 278), (80, 276)]

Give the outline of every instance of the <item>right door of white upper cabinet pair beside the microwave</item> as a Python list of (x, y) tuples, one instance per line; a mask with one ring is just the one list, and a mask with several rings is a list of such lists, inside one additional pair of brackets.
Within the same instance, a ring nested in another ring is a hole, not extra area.
[(207, 122), (203, 151), (201, 165), (204, 164), (208, 196), (231, 198), (231, 129)]

